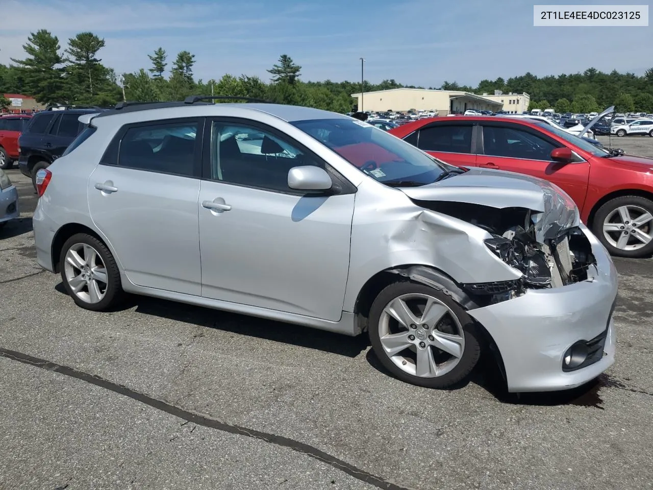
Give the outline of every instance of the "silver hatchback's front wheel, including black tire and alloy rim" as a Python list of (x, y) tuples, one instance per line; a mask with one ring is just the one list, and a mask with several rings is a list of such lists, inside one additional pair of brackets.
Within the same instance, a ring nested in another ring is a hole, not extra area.
[(422, 284), (387, 286), (370, 310), (376, 357), (396, 378), (445, 389), (464, 380), (479, 360), (479, 333), (449, 295)]

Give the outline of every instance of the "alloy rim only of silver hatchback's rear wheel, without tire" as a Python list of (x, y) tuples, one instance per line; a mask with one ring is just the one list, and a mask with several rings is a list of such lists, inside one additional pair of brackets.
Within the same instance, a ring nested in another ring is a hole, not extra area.
[(92, 246), (85, 243), (71, 246), (66, 252), (64, 272), (72, 292), (82, 301), (97, 303), (106, 295), (106, 267)]

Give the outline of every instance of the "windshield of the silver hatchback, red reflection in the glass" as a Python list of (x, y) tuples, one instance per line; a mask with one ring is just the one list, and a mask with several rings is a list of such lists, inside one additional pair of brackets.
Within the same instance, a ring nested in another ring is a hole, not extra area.
[(293, 125), (383, 184), (431, 184), (443, 172), (456, 168), (366, 122), (318, 119)]

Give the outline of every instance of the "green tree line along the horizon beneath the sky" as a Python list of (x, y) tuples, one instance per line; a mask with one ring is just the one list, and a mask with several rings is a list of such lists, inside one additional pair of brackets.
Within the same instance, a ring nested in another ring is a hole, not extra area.
[[(62, 48), (59, 39), (45, 29), (29, 35), (24, 59), (0, 65), (0, 93), (24, 93), (44, 104), (110, 106), (118, 101), (178, 101), (187, 95), (236, 95), (279, 103), (304, 105), (334, 112), (354, 108), (352, 93), (360, 92), (360, 82), (309, 82), (301, 80), (302, 67), (287, 54), (268, 69), (270, 80), (257, 76), (224, 74), (210, 80), (195, 79), (195, 55), (182, 51), (168, 59), (159, 47), (151, 54), (150, 67), (135, 73), (116, 74), (98, 57), (104, 39), (82, 32), (68, 39)], [(423, 88), (402, 85), (395, 80), (380, 84), (363, 83), (364, 91), (391, 88)], [(633, 73), (603, 73), (594, 68), (583, 73), (537, 77), (521, 76), (481, 80), (477, 87), (443, 82), (442, 90), (477, 93), (530, 94), (530, 108), (554, 108), (556, 112), (593, 112), (616, 105), (620, 112), (653, 112), (653, 68), (643, 76)], [(5, 105), (0, 101), (0, 105)]]

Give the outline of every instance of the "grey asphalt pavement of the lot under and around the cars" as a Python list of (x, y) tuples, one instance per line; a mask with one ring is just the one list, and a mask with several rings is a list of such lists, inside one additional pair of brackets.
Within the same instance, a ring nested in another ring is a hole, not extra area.
[(144, 297), (77, 308), (35, 261), (31, 182), (8, 174), (0, 489), (653, 487), (653, 259), (615, 259), (617, 357), (596, 382), (508, 395), (485, 361), (437, 391), (389, 376), (364, 337)]

